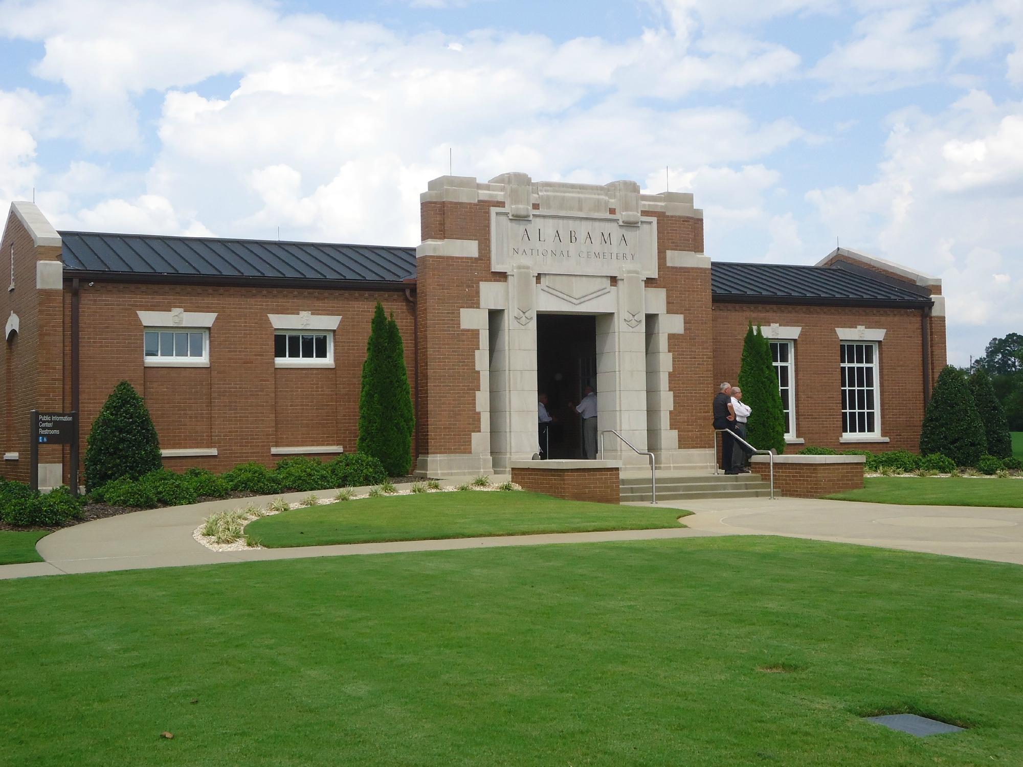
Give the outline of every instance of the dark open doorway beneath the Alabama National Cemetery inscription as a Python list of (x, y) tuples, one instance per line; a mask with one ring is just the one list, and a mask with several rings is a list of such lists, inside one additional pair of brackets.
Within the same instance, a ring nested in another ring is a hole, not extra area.
[(554, 418), (547, 457), (581, 458), (582, 424), (570, 403), (579, 403), (583, 387), (596, 388), (596, 317), (540, 314), (536, 320), (536, 388), (546, 393)]

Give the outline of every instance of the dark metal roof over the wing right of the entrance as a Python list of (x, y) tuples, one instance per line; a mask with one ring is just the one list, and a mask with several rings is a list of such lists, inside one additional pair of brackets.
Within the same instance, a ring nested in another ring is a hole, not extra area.
[(711, 264), (711, 294), (715, 301), (753, 303), (885, 303), (930, 304), (913, 290), (868, 275), (824, 266), (787, 264)]

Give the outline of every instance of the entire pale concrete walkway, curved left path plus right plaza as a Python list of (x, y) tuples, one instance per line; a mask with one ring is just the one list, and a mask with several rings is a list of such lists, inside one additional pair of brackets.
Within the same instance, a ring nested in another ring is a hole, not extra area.
[[(296, 501), (306, 495), (308, 493), (293, 493), (283, 497)], [(333, 492), (317, 495), (327, 500)], [(269, 499), (251, 500), (267, 502)], [(211, 501), (136, 511), (65, 528), (46, 536), (37, 544), (39, 553), (46, 561), (2, 566), (0, 579), (310, 556), (642, 541), (708, 535), (782, 535), (1023, 565), (1023, 509), (1020, 508), (895, 506), (802, 498), (666, 501), (658, 505), (695, 512), (685, 517), (686, 528), (666, 530), (491, 536), (223, 552), (211, 551), (192, 538), (192, 532), (205, 517), (238, 505), (237, 500)]]

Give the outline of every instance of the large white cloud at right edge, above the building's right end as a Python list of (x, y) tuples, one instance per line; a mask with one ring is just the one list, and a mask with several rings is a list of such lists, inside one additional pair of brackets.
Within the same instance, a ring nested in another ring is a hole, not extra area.
[(892, 117), (873, 183), (806, 194), (843, 244), (942, 278), (957, 362), (1023, 324), (1021, 125), (1023, 103), (986, 93), (936, 115), (906, 109)]

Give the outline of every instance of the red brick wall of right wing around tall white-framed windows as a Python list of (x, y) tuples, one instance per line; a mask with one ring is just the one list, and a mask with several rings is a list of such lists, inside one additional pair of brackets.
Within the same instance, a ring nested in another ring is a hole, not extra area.
[[(747, 323), (800, 326), (795, 342), (796, 437), (807, 445), (836, 449), (905, 449), (916, 451), (923, 421), (924, 370), (921, 311), (807, 306), (714, 304), (714, 380), (736, 382)], [(687, 318), (686, 318), (687, 319)], [(943, 320), (942, 320), (943, 324)], [(839, 443), (842, 436), (842, 393), (837, 327), (885, 328), (878, 344), (881, 389), (881, 444)], [(686, 332), (688, 322), (686, 321)], [(932, 375), (944, 364), (944, 333), (932, 337)], [(705, 397), (703, 412), (709, 413)], [(707, 416), (709, 417), (709, 416)], [(796, 447), (792, 452), (797, 452)]]

